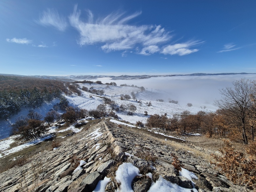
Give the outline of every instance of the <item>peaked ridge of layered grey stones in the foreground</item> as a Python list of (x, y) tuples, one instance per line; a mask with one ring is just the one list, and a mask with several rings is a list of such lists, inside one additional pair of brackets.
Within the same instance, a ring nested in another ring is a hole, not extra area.
[[(221, 155), (219, 152), (169, 139), (104, 119), (69, 137), (54, 150), (40, 152), (24, 165), (1, 173), (0, 191), (97, 191), (97, 183), (105, 176), (111, 178), (105, 191), (119, 191), (115, 174), (124, 162), (139, 168), (141, 176), (131, 183), (135, 192), (150, 190), (160, 179), (176, 183), (179, 191), (239, 191), (210, 163), (209, 154)], [(181, 176), (177, 164), (197, 179)]]

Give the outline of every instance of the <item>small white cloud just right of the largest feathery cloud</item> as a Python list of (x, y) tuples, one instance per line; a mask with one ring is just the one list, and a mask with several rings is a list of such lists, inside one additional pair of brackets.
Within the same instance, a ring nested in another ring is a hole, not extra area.
[(174, 45), (165, 46), (161, 53), (175, 55), (178, 54), (180, 56), (187, 55), (190, 53), (198, 52), (198, 49), (190, 49), (190, 47), (195, 46), (197, 44), (201, 44), (203, 41), (188, 41), (185, 43), (177, 43)]

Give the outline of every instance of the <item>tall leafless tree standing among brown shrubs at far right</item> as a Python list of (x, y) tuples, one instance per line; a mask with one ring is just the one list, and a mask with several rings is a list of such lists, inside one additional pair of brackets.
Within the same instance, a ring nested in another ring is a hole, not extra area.
[(251, 107), (250, 94), (252, 91), (252, 83), (249, 80), (241, 79), (232, 83), (234, 87), (221, 89), (222, 98), (215, 101), (215, 105), (224, 111), (228, 111), (240, 121), (242, 127), (242, 138), (244, 144), (247, 144), (247, 136), (245, 133), (245, 119)]

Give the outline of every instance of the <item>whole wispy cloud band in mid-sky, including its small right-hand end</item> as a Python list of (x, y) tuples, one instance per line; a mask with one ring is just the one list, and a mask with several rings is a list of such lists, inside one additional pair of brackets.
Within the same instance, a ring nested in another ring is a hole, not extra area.
[[(69, 16), (71, 26), (80, 34), (77, 43), (83, 45), (103, 44), (101, 49), (105, 52), (124, 51), (122, 56), (127, 56), (127, 50), (135, 53), (150, 55), (154, 53), (186, 55), (199, 51), (191, 49), (199, 41), (189, 41), (181, 44), (170, 45), (172, 35), (161, 25), (130, 25), (131, 19), (138, 17), (140, 12), (125, 16), (124, 13), (112, 13), (101, 19), (94, 19), (91, 11), (87, 11), (87, 21), (80, 19), (81, 11), (74, 8)], [(169, 44), (169, 45), (168, 45)], [(181, 46), (181, 48), (176, 48)]]

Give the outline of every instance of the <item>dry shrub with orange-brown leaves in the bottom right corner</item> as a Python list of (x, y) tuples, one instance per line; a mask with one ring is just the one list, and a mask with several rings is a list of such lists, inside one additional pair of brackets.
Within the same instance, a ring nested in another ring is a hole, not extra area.
[(221, 172), (239, 186), (256, 188), (256, 160), (245, 158), (242, 152), (234, 151), (229, 141), (224, 140), (225, 147), (220, 149), (222, 157), (213, 155)]

